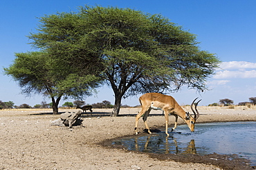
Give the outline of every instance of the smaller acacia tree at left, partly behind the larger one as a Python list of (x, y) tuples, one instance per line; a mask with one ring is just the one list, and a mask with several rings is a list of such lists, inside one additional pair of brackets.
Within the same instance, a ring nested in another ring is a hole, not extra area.
[[(12, 76), (19, 83), (21, 92), (27, 96), (44, 94), (52, 100), (53, 114), (58, 113), (58, 105), (62, 97), (81, 98), (91, 95), (93, 87), (97, 87), (98, 78), (83, 75), (66, 68), (66, 72), (56, 70), (57, 63), (46, 52), (26, 52), (15, 54), (17, 58), (5, 74)], [(58, 68), (61, 68), (58, 66)], [(62, 68), (65, 70), (65, 68)]]

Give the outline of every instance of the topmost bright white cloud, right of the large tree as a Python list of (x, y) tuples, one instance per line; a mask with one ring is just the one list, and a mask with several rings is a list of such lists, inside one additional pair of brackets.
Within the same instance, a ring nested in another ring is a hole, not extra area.
[(250, 63), (247, 61), (229, 61), (220, 64), (221, 70), (240, 70), (240, 69), (254, 69), (256, 63)]

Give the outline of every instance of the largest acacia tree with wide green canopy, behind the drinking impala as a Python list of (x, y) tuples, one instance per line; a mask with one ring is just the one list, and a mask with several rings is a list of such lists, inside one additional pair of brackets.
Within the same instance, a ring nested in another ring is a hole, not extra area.
[(118, 116), (127, 96), (176, 91), (182, 85), (206, 89), (206, 79), (219, 64), (214, 54), (199, 49), (194, 34), (158, 14), (85, 6), (40, 22), (38, 32), (29, 36), (32, 44), (60, 65), (102, 71), (97, 76), (115, 94), (112, 116)]

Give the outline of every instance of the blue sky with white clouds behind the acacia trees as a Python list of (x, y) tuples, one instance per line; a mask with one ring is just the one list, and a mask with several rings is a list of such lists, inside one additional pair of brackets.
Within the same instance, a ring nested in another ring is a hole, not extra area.
[[(35, 32), (38, 17), (57, 12), (77, 11), (84, 5), (115, 6), (132, 8), (150, 14), (162, 14), (184, 30), (197, 35), (201, 50), (216, 54), (221, 69), (208, 79), (209, 91), (201, 94), (183, 87), (181, 91), (170, 94), (179, 104), (190, 104), (196, 97), (202, 98), (201, 105), (218, 103), (229, 98), (234, 103), (249, 101), (256, 97), (256, 1), (255, 0), (130, 0), (130, 1), (80, 1), (80, 0), (1, 0), (0, 1), (0, 100), (13, 101), (15, 105), (27, 103), (31, 106), (50, 103), (49, 98), (33, 95), (30, 98), (20, 94), (21, 89), (11, 77), (3, 75), (3, 67), (8, 67), (15, 59), (15, 52), (28, 52), (26, 36)], [(138, 96), (122, 100), (125, 105), (139, 105)], [(98, 94), (84, 98), (86, 103), (98, 103), (102, 100), (114, 102), (109, 87), (98, 89)], [(73, 102), (73, 99), (62, 100)]]

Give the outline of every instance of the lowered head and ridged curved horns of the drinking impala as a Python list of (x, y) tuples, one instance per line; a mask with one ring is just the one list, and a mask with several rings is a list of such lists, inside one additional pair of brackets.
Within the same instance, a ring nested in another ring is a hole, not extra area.
[[(197, 99), (197, 98), (196, 98), (196, 99)], [(196, 99), (194, 99), (194, 101), (195, 101)], [(194, 104), (194, 101), (193, 101), (192, 104), (190, 105), (190, 107), (191, 107), (191, 109), (192, 109), (192, 111), (193, 111), (193, 113), (194, 113), (194, 117), (193, 117), (190, 113), (188, 113), (188, 112), (186, 112), (186, 116), (185, 116), (185, 122), (188, 124), (188, 127), (190, 128), (190, 131), (192, 131), (192, 132), (194, 132), (194, 123), (196, 123), (196, 119), (199, 118), (199, 111), (196, 109), (196, 107), (197, 107), (198, 103), (199, 103), (201, 100), (199, 100), (199, 101), (198, 101), (197, 103), (195, 103), (195, 104)], [(195, 109), (196, 111), (194, 111), (193, 105), (194, 105), (194, 109)]]

